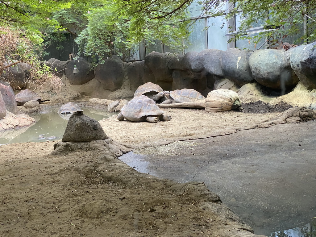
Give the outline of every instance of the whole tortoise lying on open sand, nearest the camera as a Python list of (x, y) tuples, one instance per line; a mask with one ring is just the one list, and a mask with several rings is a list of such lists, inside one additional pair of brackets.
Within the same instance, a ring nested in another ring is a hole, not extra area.
[(157, 123), (157, 121), (170, 121), (169, 115), (163, 115), (163, 111), (156, 105), (156, 102), (145, 95), (134, 97), (122, 108), (117, 119), (124, 119), (133, 122), (147, 121)]

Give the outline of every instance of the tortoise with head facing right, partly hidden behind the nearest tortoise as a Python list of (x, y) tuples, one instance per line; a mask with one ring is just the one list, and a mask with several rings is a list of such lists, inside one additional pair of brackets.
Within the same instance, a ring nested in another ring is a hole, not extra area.
[(166, 92), (163, 91), (163, 89), (152, 82), (147, 82), (137, 88), (137, 90), (134, 93), (134, 97), (146, 95), (152, 100), (159, 101), (159, 100), (166, 100)]

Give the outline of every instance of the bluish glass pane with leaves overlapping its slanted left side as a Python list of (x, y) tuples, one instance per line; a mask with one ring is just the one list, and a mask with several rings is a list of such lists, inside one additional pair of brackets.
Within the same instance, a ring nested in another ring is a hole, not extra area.
[[(185, 40), (185, 44), (188, 46), (185, 49), (185, 53), (190, 51), (201, 52), (202, 50), (206, 49), (206, 37), (205, 37), (205, 18), (195, 21), (195, 24), (192, 25), (191, 30), (192, 33), (190, 34), (188, 40)], [(188, 44), (188, 41), (191, 45)]]

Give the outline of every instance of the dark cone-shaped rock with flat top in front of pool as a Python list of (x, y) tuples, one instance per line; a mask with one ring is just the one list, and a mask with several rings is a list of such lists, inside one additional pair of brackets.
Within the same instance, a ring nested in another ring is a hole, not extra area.
[(98, 121), (78, 112), (70, 116), (63, 142), (91, 142), (98, 139), (107, 139)]

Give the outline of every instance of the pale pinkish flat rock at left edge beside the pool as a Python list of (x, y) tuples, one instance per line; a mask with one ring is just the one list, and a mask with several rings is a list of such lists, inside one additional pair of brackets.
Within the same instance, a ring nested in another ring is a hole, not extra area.
[(27, 114), (14, 114), (7, 111), (6, 116), (0, 119), (0, 131), (14, 128), (22, 128), (35, 123), (35, 119)]

